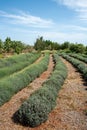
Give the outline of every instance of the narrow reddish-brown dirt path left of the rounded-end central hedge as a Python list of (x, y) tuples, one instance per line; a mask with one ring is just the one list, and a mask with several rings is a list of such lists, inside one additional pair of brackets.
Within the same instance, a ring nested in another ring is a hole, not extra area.
[[(38, 59), (35, 63), (41, 60)], [(15, 94), (11, 100), (0, 107), (0, 130), (27, 130), (27, 128), (15, 124), (11, 117), (20, 107), (22, 102), (26, 100), (32, 92), (39, 89), (44, 81), (50, 76), (53, 70), (53, 59), (50, 55), (49, 65), (47, 71), (43, 72), (39, 78), (36, 78), (32, 83), (26, 88), (22, 89), (20, 92)]]

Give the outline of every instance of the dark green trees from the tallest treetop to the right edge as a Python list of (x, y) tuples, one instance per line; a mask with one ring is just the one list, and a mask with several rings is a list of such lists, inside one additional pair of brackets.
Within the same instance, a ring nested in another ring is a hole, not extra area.
[(57, 42), (52, 42), (50, 40), (44, 40), (43, 37), (36, 39), (34, 43), (34, 48), (36, 50), (59, 50), (64, 52), (75, 52), (75, 53), (85, 53), (87, 54), (87, 46), (78, 43), (70, 43), (68, 41), (59, 44)]

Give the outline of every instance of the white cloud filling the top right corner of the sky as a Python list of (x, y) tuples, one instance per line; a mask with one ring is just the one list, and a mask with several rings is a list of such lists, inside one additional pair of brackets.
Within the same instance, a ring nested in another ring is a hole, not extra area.
[(81, 20), (87, 20), (87, 0), (53, 0), (75, 10)]

